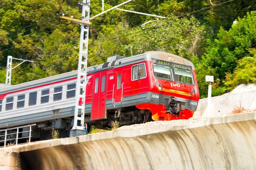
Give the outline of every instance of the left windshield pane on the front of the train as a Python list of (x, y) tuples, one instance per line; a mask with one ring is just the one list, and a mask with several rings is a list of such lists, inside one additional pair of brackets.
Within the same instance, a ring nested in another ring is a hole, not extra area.
[(165, 80), (174, 81), (172, 68), (169, 66), (162, 66), (159, 64), (153, 64), (155, 78), (161, 78)]

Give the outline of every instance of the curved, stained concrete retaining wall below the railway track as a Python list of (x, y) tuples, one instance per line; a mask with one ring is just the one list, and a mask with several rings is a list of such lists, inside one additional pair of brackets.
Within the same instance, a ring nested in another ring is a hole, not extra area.
[(13, 159), (32, 170), (253, 170), (256, 112), (41, 141), (0, 152), (20, 153)]

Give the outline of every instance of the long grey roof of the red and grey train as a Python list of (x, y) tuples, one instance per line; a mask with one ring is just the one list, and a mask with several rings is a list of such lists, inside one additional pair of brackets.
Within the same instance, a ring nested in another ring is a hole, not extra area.
[[(100, 70), (104, 70), (104, 69), (117, 68), (120, 66), (125, 66), (125, 65), (129, 65), (129, 64), (133, 64), (133, 63), (139, 63), (139, 62), (143, 62), (143, 61), (151, 61), (152, 58), (157, 58), (159, 60), (168, 61), (169, 56), (174, 58), (174, 61), (173, 61), (174, 63), (192, 66), (192, 69), (195, 69), (192, 62), (190, 62), (190, 61), (186, 60), (185, 58), (182, 58), (178, 55), (173, 55), (173, 54), (166, 53), (166, 52), (151, 51), (151, 52), (145, 52), (140, 55), (134, 55), (134, 56), (128, 57), (128, 58), (122, 58), (119, 56), (119, 58), (121, 58), (121, 59), (118, 59), (115, 61), (110, 61), (110, 62), (103, 63), (103, 64), (99, 64), (96, 66), (88, 67), (87, 74), (97, 72)], [(64, 79), (74, 78), (74, 77), (76, 77), (76, 75), (77, 75), (77, 70), (73, 71), (73, 72), (66, 72), (63, 74), (54, 75), (51, 77), (42, 78), (42, 79), (38, 79), (38, 80), (34, 80), (34, 81), (29, 81), (26, 83), (17, 84), (17, 85), (13, 85), (13, 86), (3, 86), (2, 88), (0, 88), (0, 94), (3, 94), (3, 92), (6, 93), (6, 92), (12, 92), (14, 90), (23, 89), (24, 86), (29, 88), (29, 87), (33, 87), (33, 86), (40, 86), (41, 84), (44, 84), (45, 82), (53, 83), (53, 82), (61, 81)]]

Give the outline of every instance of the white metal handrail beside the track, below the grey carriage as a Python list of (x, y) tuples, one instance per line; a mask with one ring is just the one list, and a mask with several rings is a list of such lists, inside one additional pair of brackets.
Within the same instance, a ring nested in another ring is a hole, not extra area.
[[(13, 127), (13, 128), (10, 128), (10, 129), (5, 129), (5, 130), (0, 130), (0, 132), (3, 132), (5, 131), (5, 134), (4, 135), (0, 135), (0, 136), (4, 136), (4, 147), (6, 147), (6, 141), (11, 141), (11, 140), (15, 140), (15, 145), (17, 146), (18, 144), (18, 139), (23, 139), (23, 138), (29, 138), (29, 143), (30, 143), (30, 139), (31, 139), (31, 131), (32, 131), (32, 126), (35, 126), (36, 124), (29, 124), (29, 125), (25, 125), (25, 126), (20, 126), (20, 127)], [(20, 128), (24, 128), (24, 127), (29, 127), (29, 130), (27, 131), (24, 131), (24, 132), (19, 132), (19, 129)], [(7, 131), (9, 130), (15, 130), (17, 129), (17, 132), (16, 133), (9, 133), (7, 134)], [(19, 133), (26, 133), (26, 132), (29, 132), (29, 136), (28, 137), (21, 137), (19, 138)], [(16, 134), (16, 138), (11, 138), (11, 139), (7, 139), (7, 135), (14, 135)], [(0, 141), (1, 142), (1, 141)]]

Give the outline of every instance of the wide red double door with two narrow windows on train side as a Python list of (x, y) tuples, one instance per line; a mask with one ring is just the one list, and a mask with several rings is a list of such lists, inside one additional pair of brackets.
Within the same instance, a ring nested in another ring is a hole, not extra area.
[(94, 73), (91, 120), (106, 118), (106, 84), (108, 71)]

